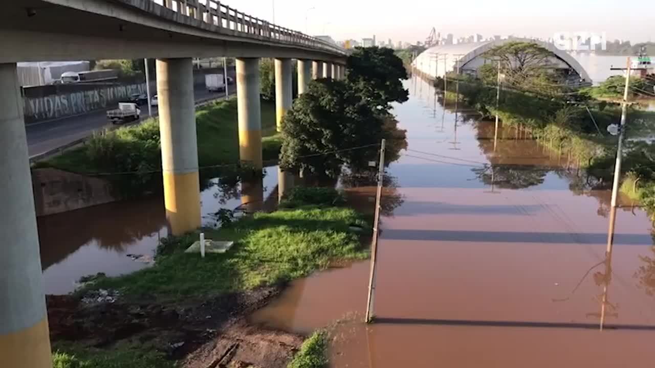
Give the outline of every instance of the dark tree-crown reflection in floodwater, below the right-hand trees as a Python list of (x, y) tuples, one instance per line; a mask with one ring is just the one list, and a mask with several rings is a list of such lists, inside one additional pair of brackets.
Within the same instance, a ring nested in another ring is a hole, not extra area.
[(524, 189), (540, 185), (551, 171), (530, 165), (495, 165), (471, 170), (485, 185), (493, 183), (501, 189)]

